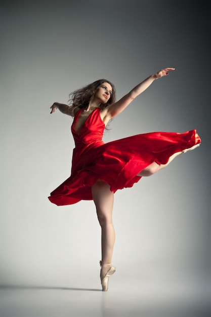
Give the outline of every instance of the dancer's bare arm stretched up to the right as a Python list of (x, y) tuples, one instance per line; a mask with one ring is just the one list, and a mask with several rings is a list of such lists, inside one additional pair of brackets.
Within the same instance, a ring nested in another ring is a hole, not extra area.
[(175, 70), (175, 68), (164, 68), (160, 71), (152, 74), (151, 76), (147, 77), (142, 83), (134, 87), (128, 94), (123, 96), (117, 102), (112, 105), (109, 105), (105, 108), (106, 116), (112, 118), (123, 111), (137, 96), (143, 93), (153, 82), (158, 78), (168, 75), (168, 71)]

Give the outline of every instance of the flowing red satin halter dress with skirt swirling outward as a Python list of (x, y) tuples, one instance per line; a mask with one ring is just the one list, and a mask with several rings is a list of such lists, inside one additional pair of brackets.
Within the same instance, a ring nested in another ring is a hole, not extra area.
[(200, 143), (196, 130), (151, 132), (104, 143), (105, 124), (99, 108), (88, 116), (80, 135), (75, 132), (81, 111), (76, 112), (71, 127), (75, 140), (71, 176), (49, 197), (57, 206), (92, 200), (91, 186), (98, 179), (108, 183), (113, 192), (132, 187), (141, 178), (137, 174), (151, 163), (166, 164), (172, 154)]

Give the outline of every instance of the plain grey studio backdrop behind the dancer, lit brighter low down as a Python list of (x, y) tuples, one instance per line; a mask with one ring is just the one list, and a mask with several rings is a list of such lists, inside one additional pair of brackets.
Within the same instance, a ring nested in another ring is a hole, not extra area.
[[(116, 279), (206, 278), (210, 268), (208, 5), (181, 1), (7, 2), (1, 13), (2, 285), (99, 287), (93, 202), (47, 196), (70, 174), (72, 118), (53, 102), (99, 78), (128, 93), (176, 67), (116, 117), (104, 141), (196, 128), (200, 148), (116, 192)], [(209, 68), (210, 69), (210, 68)], [(74, 273), (73, 273), (74, 272)], [(88, 276), (94, 282), (87, 283)], [(96, 280), (95, 280), (96, 276)], [(86, 284), (87, 283), (87, 284)]]

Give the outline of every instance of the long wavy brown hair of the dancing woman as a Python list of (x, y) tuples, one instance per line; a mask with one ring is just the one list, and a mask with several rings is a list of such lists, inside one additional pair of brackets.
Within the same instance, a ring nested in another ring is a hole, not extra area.
[(74, 110), (76, 108), (83, 108), (89, 105), (90, 99), (93, 96), (94, 91), (103, 83), (108, 83), (111, 85), (112, 93), (108, 101), (106, 103), (101, 103), (99, 108), (103, 109), (116, 101), (116, 90), (114, 85), (105, 79), (98, 80), (85, 87), (79, 88), (69, 94), (68, 103), (71, 109), (72, 116), (74, 116)]

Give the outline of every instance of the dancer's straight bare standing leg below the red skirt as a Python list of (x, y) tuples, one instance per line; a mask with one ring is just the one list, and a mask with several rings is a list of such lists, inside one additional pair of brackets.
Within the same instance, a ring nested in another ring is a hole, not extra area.
[(92, 195), (97, 210), (98, 220), (102, 230), (102, 280), (111, 267), (110, 263), (112, 260), (113, 247), (115, 242), (115, 231), (112, 221), (114, 194), (112, 191), (110, 191), (110, 186), (108, 184), (102, 182), (101, 180), (98, 180), (95, 185), (92, 186)]

